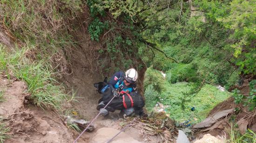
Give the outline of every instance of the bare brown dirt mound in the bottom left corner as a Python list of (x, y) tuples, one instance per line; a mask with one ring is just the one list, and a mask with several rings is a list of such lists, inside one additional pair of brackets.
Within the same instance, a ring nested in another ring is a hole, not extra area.
[(0, 90), (4, 102), (0, 103), (0, 116), (11, 129), (12, 139), (5, 143), (67, 143), (73, 134), (49, 111), (33, 106), (24, 106), (26, 85), (21, 81), (7, 80), (0, 75)]

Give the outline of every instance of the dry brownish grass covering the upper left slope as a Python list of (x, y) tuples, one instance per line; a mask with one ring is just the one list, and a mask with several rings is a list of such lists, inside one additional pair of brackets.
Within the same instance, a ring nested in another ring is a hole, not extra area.
[[(66, 55), (59, 51), (77, 45), (71, 32), (83, 8), (82, 0), (1, 0), (0, 25), (18, 45), (33, 45), (27, 58), (48, 59), (58, 74), (67, 74)], [(0, 41), (10, 45), (7, 38), (0, 34)]]

